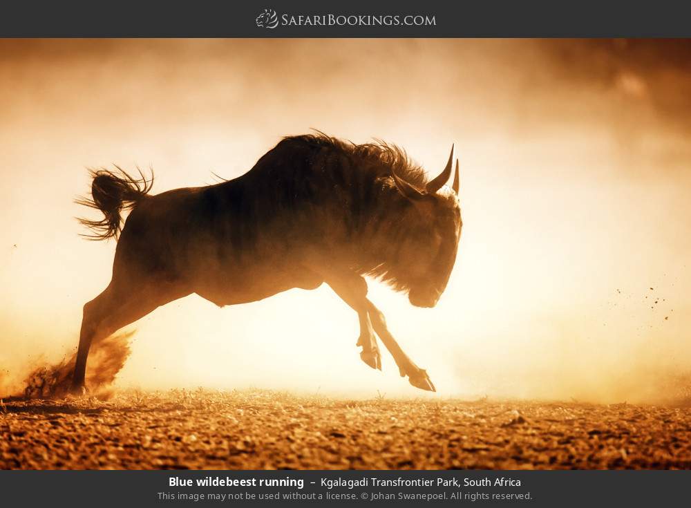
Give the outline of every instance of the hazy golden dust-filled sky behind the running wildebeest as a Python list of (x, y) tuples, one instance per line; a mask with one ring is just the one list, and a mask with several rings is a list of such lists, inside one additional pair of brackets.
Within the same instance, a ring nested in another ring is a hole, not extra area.
[(120, 386), (669, 391), (691, 371), (690, 57), (650, 40), (0, 41), (0, 368), (73, 350), (108, 283), (115, 242), (74, 220), (91, 213), (73, 204), (86, 167), (151, 165), (154, 193), (205, 185), (315, 128), (395, 142), (431, 173), (456, 143), (464, 231), (439, 305), (370, 284), (439, 392), (386, 352), (383, 373), (363, 364), (357, 315), (328, 287), (160, 308), (129, 327)]

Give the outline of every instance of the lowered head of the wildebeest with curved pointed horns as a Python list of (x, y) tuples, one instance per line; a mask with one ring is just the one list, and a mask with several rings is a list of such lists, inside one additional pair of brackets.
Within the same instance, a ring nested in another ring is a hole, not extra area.
[[(458, 200), (459, 171), (456, 160), (453, 185), (446, 184), (451, 176), (453, 146), (444, 171), (428, 182), (424, 189), (392, 173), (398, 191), (412, 203), (419, 231), (407, 239), (415, 252), (407, 263), (406, 277), (410, 283), (408, 299), (417, 307), (434, 307), (446, 288), (456, 260), (461, 236), (461, 209)], [(410, 252), (410, 250), (408, 251)]]

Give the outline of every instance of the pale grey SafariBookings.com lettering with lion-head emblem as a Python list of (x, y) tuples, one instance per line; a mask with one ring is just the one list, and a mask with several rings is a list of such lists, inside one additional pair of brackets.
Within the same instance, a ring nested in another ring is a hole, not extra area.
[(290, 15), (279, 18), (273, 9), (264, 9), (254, 20), (259, 28), (281, 26), (437, 26), (434, 15)]

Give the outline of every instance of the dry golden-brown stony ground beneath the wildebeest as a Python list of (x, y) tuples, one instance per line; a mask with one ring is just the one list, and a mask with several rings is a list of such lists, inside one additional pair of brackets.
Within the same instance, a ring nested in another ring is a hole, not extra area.
[(691, 409), (268, 391), (0, 404), (3, 469), (691, 468)]

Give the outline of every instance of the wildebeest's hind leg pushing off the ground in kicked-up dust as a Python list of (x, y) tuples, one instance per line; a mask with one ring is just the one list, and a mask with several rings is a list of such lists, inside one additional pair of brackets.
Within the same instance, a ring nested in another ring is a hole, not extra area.
[(86, 391), (84, 377), (91, 344), (146, 316), (160, 305), (186, 294), (189, 294), (189, 291), (169, 283), (140, 283), (124, 288), (122, 285), (114, 285), (111, 281), (104, 292), (84, 305), (82, 330), (79, 332), (79, 348), (70, 391), (77, 395)]

